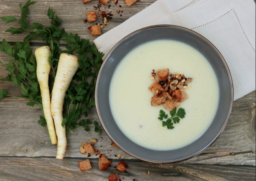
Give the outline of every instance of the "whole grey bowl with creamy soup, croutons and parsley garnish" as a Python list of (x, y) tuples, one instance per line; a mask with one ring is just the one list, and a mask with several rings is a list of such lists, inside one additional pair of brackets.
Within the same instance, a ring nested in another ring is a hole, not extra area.
[(131, 33), (107, 54), (96, 109), (109, 138), (147, 162), (198, 155), (223, 132), (233, 104), (225, 59), (202, 35), (159, 25)]

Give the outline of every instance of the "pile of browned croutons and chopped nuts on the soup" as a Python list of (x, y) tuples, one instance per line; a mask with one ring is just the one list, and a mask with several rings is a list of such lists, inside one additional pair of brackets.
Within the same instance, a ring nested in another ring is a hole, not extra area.
[(183, 89), (191, 86), (188, 84), (192, 82), (192, 78), (186, 78), (185, 75), (178, 73), (169, 73), (169, 69), (166, 68), (156, 72), (153, 70), (151, 80), (154, 81), (149, 87), (154, 94), (151, 100), (152, 106), (164, 104), (164, 108), (170, 111), (188, 98)]

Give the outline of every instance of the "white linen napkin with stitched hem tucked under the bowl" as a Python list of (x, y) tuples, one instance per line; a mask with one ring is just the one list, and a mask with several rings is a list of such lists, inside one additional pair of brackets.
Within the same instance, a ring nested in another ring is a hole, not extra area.
[(140, 28), (172, 24), (192, 29), (223, 54), (237, 100), (256, 89), (254, 0), (158, 0), (94, 40), (105, 56), (123, 37)]

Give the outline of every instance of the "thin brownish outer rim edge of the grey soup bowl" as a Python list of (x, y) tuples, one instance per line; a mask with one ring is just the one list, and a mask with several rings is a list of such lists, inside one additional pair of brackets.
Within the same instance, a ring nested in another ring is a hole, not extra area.
[[(155, 160), (149, 160), (149, 159), (145, 159), (143, 157), (139, 157), (133, 153), (131, 153), (129, 150), (123, 148), (119, 143), (117, 143), (113, 138), (112, 136), (110, 135), (109, 131), (106, 129), (105, 125), (104, 125), (104, 122), (103, 122), (103, 119), (100, 115), (100, 108), (99, 108), (99, 104), (98, 104), (98, 99), (97, 99), (97, 92), (98, 92), (98, 85), (99, 85), (99, 80), (100, 80), (100, 76), (101, 76), (101, 73), (102, 73), (102, 70), (104, 68), (104, 65), (106, 64), (107, 62), (107, 59), (109, 59), (109, 56), (111, 55), (111, 53), (114, 51), (114, 49), (116, 49), (116, 47), (118, 47), (123, 41), (125, 41), (127, 38), (129, 38), (130, 36), (136, 34), (136, 33), (139, 33), (141, 31), (144, 31), (144, 30), (147, 30), (147, 29), (150, 29), (150, 28), (162, 28), (162, 27), (169, 27), (169, 28), (178, 28), (178, 29), (181, 29), (181, 30), (185, 30), (185, 31), (188, 31), (190, 33), (193, 33), (194, 35), (197, 35), (199, 38), (203, 39), (204, 41), (206, 41), (215, 51), (216, 53), (220, 56), (220, 59), (223, 61), (223, 64), (226, 68), (226, 71), (228, 73), (228, 77), (229, 77), (229, 80), (230, 80), (230, 90), (231, 90), (231, 99), (230, 99), (230, 108), (229, 108), (229, 112), (228, 112), (228, 116), (223, 124), (223, 127), (220, 129), (220, 132), (216, 135), (216, 137), (211, 141), (211, 143), (209, 143), (208, 145), (206, 145), (204, 148), (202, 148), (201, 150), (199, 150), (197, 153), (194, 153), (188, 157), (184, 157), (182, 159), (178, 159), (178, 160), (167, 160), (167, 161), (161, 161), (161, 162), (158, 162), (158, 161), (155, 161)], [(141, 28), (137, 31), (134, 31), (133, 33), (130, 33), (129, 35), (125, 36), (123, 39), (121, 39), (119, 42), (116, 43), (116, 45), (109, 51), (109, 53), (107, 54), (107, 56), (105, 57), (103, 63), (102, 63), (102, 66), (100, 68), (100, 71), (99, 71), (99, 74), (97, 76), (97, 81), (96, 81), (96, 87), (95, 87), (95, 103), (96, 103), (96, 111), (97, 111), (97, 115), (98, 115), (98, 118), (100, 120), (100, 123), (104, 129), (104, 131), (106, 132), (107, 136), (109, 136), (109, 138), (111, 139), (111, 141), (113, 141), (121, 150), (123, 150), (125, 153), (127, 153), (128, 155), (132, 156), (132, 157), (135, 157), (139, 160), (142, 160), (142, 161), (145, 161), (145, 162), (151, 162), (151, 163), (175, 163), (175, 162), (182, 162), (182, 161), (185, 161), (185, 160), (189, 160), (197, 155), (199, 155), (200, 153), (202, 153), (204, 150), (206, 150), (207, 148), (209, 148), (209, 146), (211, 146), (217, 139), (218, 137), (222, 134), (222, 132), (224, 131), (227, 123), (228, 123), (228, 120), (230, 118), (230, 114), (232, 112), (232, 106), (233, 106), (233, 103), (234, 103), (234, 85), (233, 85), (233, 80), (232, 80), (232, 75), (230, 73), (230, 69), (228, 67), (228, 64), (227, 62), (225, 61), (223, 55), (220, 53), (220, 51), (213, 45), (213, 43), (211, 43), (207, 38), (205, 38), (203, 35), (195, 32), (195, 31), (192, 31), (188, 28), (185, 28), (185, 27), (182, 27), (182, 26), (176, 26), (176, 25), (168, 25), (168, 24), (165, 24), (165, 25), (154, 25), (154, 26), (147, 26), (145, 28)]]

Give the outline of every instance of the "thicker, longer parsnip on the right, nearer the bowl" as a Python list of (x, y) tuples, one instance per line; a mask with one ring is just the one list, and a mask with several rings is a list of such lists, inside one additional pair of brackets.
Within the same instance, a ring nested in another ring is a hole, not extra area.
[(58, 149), (56, 158), (62, 160), (66, 151), (66, 127), (62, 127), (63, 104), (70, 82), (78, 70), (78, 58), (70, 54), (62, 53), (55, 82), (52, 89), (52, 116), (55, 123), (56, 134), (58, 137)]

